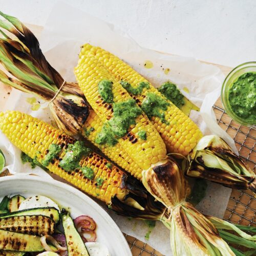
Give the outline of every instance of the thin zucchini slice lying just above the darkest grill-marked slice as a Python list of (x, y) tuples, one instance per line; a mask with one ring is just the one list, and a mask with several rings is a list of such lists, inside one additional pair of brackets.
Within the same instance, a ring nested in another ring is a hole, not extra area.
[(50, 217), (57, 224), (59, 222), (59, 211), (54, 207), (42, 207), (42, 208), (33, 208), (25, 209), (11, 212), (10, 214), (0, 214), (0, 218), (7, 218), (13, 216), (31, 216), (31, 215), (43, 215)]

